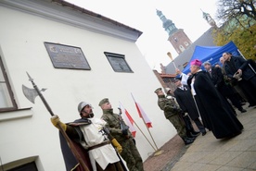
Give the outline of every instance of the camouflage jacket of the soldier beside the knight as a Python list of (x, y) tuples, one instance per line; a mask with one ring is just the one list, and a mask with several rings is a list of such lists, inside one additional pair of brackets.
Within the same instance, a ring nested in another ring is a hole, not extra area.
[[(122, 141), (127, 139), (127, 136), (122, 135), (121, 117), (118, 114), (114, 114), (113, 109), (104, 109), (103, 115), (101, 116), (101, 118), (107, 122), (106, 128), (109, 128), (110, 134), (116, 140)], [(124, 122), (122, 122), (122, 124), (125, 125)], [(129, 129), (128, 129), (128, 137), (132, 138), (132, 133), (129, 131)]]

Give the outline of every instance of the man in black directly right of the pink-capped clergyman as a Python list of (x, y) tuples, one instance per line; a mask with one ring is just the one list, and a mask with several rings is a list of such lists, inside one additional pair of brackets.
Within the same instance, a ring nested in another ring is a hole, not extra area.
[(237, 98), (237, 95), (234, 92), (233, 87), (225, 84), (222, 69), (220, 67), (211, 67), (211, 63), (209, 61), (204, 62), (203, 67), (209, 73), (210, 79), (215, 88), (224, 96), (224, 98), (229, 99), (231, 103), (234, 106), (236, 106), (241, 113), (247, 112), (242, 107), (242, 104)]

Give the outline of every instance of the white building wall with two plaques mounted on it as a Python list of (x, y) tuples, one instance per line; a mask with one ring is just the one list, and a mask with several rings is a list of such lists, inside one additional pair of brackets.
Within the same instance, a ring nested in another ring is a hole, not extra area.
[[(152, 145), (151, 136), (160, 148), (176, 134), (157, 104), (154, 91), (160, 82), (134, 42), (22, 12), (1, 2), (0, 21), (0, 55), (16, 102), (19, 109), (32, 107), (0, 113), (2, 165), (32, 157), (30, 160), (35, 160), (40, 171), (65, 170), (58, 129), (52, 126), (50, 114), (39, 97), (32, 104), (21, 90), (22, 84), (32, 88), (26, 72), (40, 89), (47, 89), (43, 92), (45, 99), (63, 122), (79, 117), (77, 104), (81, 101), (93, 104), (95, 116), (100, 117), (102, 112), (97, 104), (108, 97), (116, 113), (122, 102)], [(91, 70), (53, 67), (44, 42), (81, 47)], [(115, 72), (104, 52), (125, 55), (134, 73)], [(152, 121), (151, 136), (138, 116), (131, 93)], [(136, 130), (137, 148), (145, 161), (155, 151)]]

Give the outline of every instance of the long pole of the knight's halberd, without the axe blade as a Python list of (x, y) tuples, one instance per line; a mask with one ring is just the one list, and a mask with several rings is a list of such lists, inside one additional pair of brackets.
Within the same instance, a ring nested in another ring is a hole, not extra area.
[[(29, 75), (29, 73), (27, 72), (27, 75), (29, 77), (29, 80), (32, 82), (32, 86), (34, 88), (34, 90), (38, 93), (39, 97), (41, 98), (41, 100), (43, 101), (43, 103), (45, 104), (45, 107), (47, 108), (48, 112), (50, 113), (51, 116), (54, 116), (54, 113), (51, 109), (51, 107), (49, 106), (49, 104), (46, 102), (45, 97), (43, 96), (43, 94), (39, 91), (37, 85), (33, 82), (32, 77)], [(61, 134), (63, 135), (63, 137), (65, 138), (65, 140), (68, 142), (69, 146), (70, 146), (70, 150), (71, 152), (74, 154), (75, 158), (79, 161), (79, 164), (82, 165), (83, 167), (83, 171), (89, 171), (88, 167), (83, 163), (82, 157), (81, 155), (77, 152), (75, 146), (73, 145), (72, 141), (70, 140), (69, 136), (67, 135), (67, 133), (65, 132), (65, 130), (60, 126), (60, 123), (58, 122), (58, 129), (60, 130)]]

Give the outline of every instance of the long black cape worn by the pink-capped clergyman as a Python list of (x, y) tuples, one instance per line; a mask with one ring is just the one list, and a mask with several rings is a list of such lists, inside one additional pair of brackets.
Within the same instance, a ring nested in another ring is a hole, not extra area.
[(212, 131), (216, 139), (240, 134), (243, 125), (224, 97), (215, 89), (207, 74), (206, 71), (199, 71), (187, 79), (187, 85), (191, 88), (191, 80), (195, 78), (195, 99), (204, 126)]

